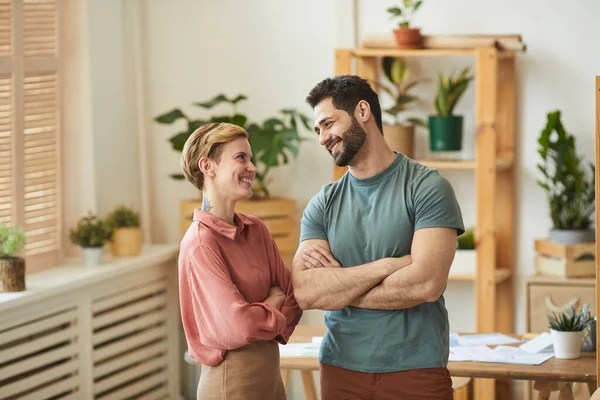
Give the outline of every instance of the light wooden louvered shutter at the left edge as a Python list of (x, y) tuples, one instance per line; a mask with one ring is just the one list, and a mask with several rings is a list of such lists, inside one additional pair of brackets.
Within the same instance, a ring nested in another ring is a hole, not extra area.
[(27, 234), (28, 271), (61, 248), (60, 0), (0, 0), (0, 221)]

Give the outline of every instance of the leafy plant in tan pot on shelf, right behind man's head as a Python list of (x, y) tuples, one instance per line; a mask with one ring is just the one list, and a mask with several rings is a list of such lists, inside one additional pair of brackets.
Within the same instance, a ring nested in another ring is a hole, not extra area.
[(416, 118), (401, 121), (401, 115), (418, 100), (410, 94), (410, 90), (425, 79), (410, 80), (410, 71), (402, 58), (383, 57), (383, 72), (389, 83), (377, 83), (394, 101), (390, 108), (383, 112), (393, 118), (393, 124), (384, 124), (383, 135), (392, 150), (399, 151), (409, 158), (414, 158), (415, 124), (421, 124)]

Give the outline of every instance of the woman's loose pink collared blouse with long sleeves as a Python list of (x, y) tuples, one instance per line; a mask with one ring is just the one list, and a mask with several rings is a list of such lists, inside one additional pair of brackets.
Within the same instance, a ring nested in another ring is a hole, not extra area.
[[(227, 350), (257, 340), (285, 344), (300, 317), (291, 273), (265, 224), (236, 213), (236, 226), (196, 209), (181, 241), (179, 300), (190, 357), (217, 365)], [(280, 310), (263, 301), (277, 285)]]

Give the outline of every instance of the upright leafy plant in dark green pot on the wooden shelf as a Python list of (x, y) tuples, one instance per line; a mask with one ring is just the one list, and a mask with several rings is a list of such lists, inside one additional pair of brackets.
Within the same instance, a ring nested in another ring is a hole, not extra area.
[(437, 115), (429, 116), (429, 149), (460, 151), (462, 149), (463, 116), (453, 115), (454, 107), (467, 90), (473, 76), (465, 68), (458, 76), (439, 74), (438, 92), (434, 100)]

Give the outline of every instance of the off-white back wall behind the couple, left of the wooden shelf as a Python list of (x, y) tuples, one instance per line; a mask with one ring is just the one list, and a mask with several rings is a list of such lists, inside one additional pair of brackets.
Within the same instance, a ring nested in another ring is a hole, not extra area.
[[(191, 103), (222, 92), (247, 95), (239, 109), (251, 120), (262, 121), (285, 107), (310, 115), (306, 94), (333, 71), (334, 2), (154, 0), (146, 7), (149, 118), (175, 106), (193, 116), (207, 115)], [(153, 123), (148, 132), (157, 241), (179, 239), (178, 202), (198, 197), (193, 186), (168, 177), (179, 172), (180, 154), (167, 142), (178, 129)], [(275, 171), (271, 186), (274, 194), (301, 204), (332, 178), (327, 155), (310, 132), (306, 135), (298, 163)]]

